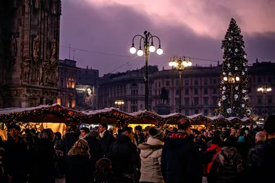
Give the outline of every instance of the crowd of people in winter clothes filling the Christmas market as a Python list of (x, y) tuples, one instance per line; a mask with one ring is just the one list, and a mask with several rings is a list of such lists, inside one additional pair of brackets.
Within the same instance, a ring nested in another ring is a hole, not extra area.
[(0, 138), (0, 182), (54, 183), (208, 183), (273, 182), (275, 115), (264, 129), (71, 126), (64, 136), (51, 129), (36, 132), (8, 125)]

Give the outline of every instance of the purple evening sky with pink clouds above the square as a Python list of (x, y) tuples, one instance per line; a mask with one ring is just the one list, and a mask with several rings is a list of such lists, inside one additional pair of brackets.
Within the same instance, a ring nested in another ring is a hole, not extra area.
[(143, 57), (129, 53), (133, 36), (144, 30), (162, 41), (164, 55), (153, 53), (149, 60), (159, 69), (168, 69), (173, 55), (222, 60), (221, 40), (232, 17), (241, 27), (249, 62), (275, 62), (274, 0), (63, 0), (62, 9), (60, 58), (69, 58), (71, 44), (77, 66), (99, 69), (100, 75), (123, 64), (113, 73), (144, 66)]

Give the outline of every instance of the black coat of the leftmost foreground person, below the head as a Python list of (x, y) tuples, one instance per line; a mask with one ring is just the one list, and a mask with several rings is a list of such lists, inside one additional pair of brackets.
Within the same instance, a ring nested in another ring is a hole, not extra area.
[(5, 172), (12, 176), (14, 182), (24, 182), (28, 175), (28, 145), (21, 136), (18, 138), (16, 143), (14, 138), (9, 136), (8, 141), (4, 143)]

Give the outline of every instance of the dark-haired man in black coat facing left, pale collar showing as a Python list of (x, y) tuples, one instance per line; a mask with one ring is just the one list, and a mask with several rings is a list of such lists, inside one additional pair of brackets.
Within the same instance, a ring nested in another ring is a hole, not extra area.
[(100, 132), (100, 142), (102, 147), (102, 155), (108, 155), (111, 144), (115, 141), (113, 134), (109, 134), (108, 125), (106, 123), (99, 123), (98, 132)]

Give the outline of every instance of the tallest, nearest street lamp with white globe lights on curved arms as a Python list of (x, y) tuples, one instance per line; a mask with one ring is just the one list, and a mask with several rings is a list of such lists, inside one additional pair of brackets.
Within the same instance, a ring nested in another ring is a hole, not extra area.
[[(134, 40), (135, 38), (138, 37), (140, 38), (140, 46), (139, 49), (135, 49), (135, 44)], [(159, 38), (157, 36), (153, 36), (150, 34), (150, 32), (144, 32), (144, 36), (137, 34), (133, 36), (133, 41), (132, 41), (132, 47), (130, 48), (130, 53), (134, 54), (137, 52), (137, 56), (143, 56), (144, 53), (144, 59), (145, 59), (145, 77), (144, 77), (144, 82), (145, 82), (145, 108), (148, 110), (148, 97), (149, 97), (149, 90), (148, 90), (148, 56), (150, 52), (155, 51), (155, 45), (153, 44), (153, 38)], [(143, 43), (143, 44), (142, 44)], [(157, 49), (157, 54), (162, 55), (163, 50), (160, 45), (160, 40), (159, 40), (159, 47)]]

